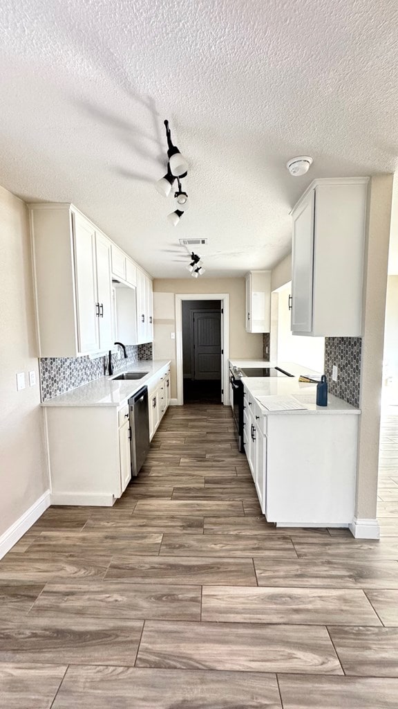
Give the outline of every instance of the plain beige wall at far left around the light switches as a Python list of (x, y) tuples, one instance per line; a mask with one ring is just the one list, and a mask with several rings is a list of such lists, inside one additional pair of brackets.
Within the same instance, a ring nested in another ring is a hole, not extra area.
[[(28, 210), (0, 187), (0, 535), (48, 488)], [(28, 384), (28, 372), (36, 385)], [(16, 373), (26, 389), (16, 391)]]

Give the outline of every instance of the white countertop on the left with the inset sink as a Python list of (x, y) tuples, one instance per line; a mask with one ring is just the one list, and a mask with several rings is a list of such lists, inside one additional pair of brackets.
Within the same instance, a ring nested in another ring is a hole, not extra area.
[[(130, 396), (142, 386), (146, 386), (152, 376), (168, 364), (170, 364), (169, 359), (135, 362), (112, 376), (101, 376), (101, 379), (94, 379), (89, 384), (82, 384), (72, 391), (43, 401), (42, 406), (123, 406)], [(142, 379), (113, 379), (123, 372), (147, 372), (147, 374)]]

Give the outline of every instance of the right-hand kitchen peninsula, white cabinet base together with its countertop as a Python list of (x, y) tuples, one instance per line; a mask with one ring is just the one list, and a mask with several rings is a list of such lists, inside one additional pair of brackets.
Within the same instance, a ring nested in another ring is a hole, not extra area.
[[(245, 371), (276, 366), (244, 359), (229, 364)], [(354, 522), (360, 410), (332, 395), (328, 406), (317, 406), (317, 385), (298, 381), (300, 374), (315, 373), (292, 362), (277, 366), (293, 376), (241, 379), (244, 452), (261, 510), (278, 527), (348, 527)]]

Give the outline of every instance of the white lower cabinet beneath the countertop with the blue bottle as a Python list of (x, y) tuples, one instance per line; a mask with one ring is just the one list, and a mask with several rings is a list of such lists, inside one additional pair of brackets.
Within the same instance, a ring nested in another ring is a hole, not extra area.
[(244, 406), (244, 450), (268, 522), (352, 523), (358, 415), (265, 413), (246, 386)]

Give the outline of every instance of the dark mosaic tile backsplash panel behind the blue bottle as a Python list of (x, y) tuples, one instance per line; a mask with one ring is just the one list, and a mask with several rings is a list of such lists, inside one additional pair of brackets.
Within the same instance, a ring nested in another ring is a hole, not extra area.
[[(359, 407), (361, 337), (325, 337), (324, 370), (331, 394)], [(338, 381), (332, 381), (333, 365), (339, 368)]]

